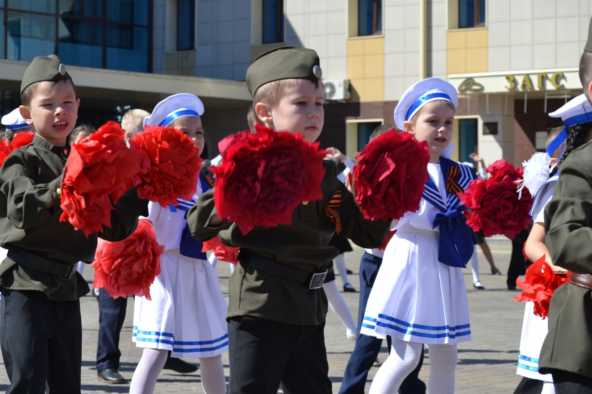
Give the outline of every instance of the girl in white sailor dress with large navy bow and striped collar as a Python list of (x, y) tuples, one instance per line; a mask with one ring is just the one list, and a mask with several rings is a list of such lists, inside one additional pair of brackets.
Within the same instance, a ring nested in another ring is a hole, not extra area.
[(419, 210), (393, 222), (397, 233), (384, 251), (366, 306), (361, 333), (392, 337), (390, 356), (374, 377), (371, 394), (397, 392), (417, 366), (423, 344), (430, 353), (430, 394), (452, 394), (456, 344), (471, 339), (461, 268), (471, 259), (473, 245), (456, 193), (476, 175), (449, 158), (457, 105), (455, 87), (428, 78), (407, 89), (395, 108), (397, 128), (427, 141), (430, 178)]

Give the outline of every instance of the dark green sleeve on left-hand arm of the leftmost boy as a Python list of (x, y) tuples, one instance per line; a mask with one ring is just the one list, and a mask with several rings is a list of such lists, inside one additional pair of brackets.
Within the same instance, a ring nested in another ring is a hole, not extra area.
[(0, 194), (7, 201), (7, 217), (17, 229), (28, 229), (44, 223), (53, 214), (53, 207), (46, 209), (50, 201), (59, 204), (57, 193), (62, 185), (62, 175), (50, 183), (35, 184), (34, 169), (28, 168), (20, 153), (7, 157), (0, 169)]

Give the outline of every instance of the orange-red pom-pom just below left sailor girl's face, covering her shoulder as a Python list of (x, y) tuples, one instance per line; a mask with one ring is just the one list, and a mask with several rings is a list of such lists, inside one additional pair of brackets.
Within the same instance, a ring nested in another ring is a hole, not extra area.
[(140, 198), (161, 207), (178, 205), (177, 198), (191, 200), (203, 161), (191, 138), (171, 127), (149, 126), (130, 139), (130, 148), (148, 170), (133, 180)]

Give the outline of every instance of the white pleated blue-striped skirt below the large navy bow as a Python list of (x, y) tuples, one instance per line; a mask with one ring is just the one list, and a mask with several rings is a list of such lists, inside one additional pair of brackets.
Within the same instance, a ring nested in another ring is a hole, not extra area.
[(438, 232), (406, 224), (388, 243), (361, 333), (426, 344), (471, 340), (461, 268), (438, 261)]

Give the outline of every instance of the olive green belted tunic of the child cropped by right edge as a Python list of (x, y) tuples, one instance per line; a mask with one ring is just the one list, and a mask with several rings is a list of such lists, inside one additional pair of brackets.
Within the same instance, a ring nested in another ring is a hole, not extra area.
[[(592, 273), (592, 142), (571, 152), (545, 209), (546, 246), (553, 263)], [(564, 370), (592, 378), (592, 290), (571, 283), (553, 294), (549, 334), (539, 372)]]

